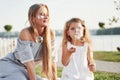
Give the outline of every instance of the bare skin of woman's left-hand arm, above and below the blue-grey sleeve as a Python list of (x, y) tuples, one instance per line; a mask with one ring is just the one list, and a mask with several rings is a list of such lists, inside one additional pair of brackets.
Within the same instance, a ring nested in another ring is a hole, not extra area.
[[(19, 38), (23, 41), (32, 41), (32, 37), (31, 37), (31, 34), (30, 34), (28, 28), (25, 28), (21, 31)], [(29, 54), (29, 51), (28, 51), (28, 53), (25, 53), (25, 54)], [(29, 80), (36, 80), (34, 60), (24, 62), (24, 64), (27, 68), (27, 73), (28, 73)]]

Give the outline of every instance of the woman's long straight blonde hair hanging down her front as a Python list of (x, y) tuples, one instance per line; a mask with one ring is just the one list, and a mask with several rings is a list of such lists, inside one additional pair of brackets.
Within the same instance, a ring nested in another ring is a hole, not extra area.
[[(29, 9), (28, 19), (31, 26), (30, 30), (33, 33), (35, 32), (34, 31), (35, 24), (33, 22), (33, 18), (36, 17), (38, 9), (43, 6), (47, 9), (48, 11), (47, 15), (49, 16), (48, 7), (45, 4), (34, 4)], [(42, 58), (42, 72), (45, 73), (48, 79), (50, 80), (52, 68), (51, 68), (51, 33), (49, 27), (45, 27), (44, 34), (45, 36), (43, 37), (43, 46), (42, 49), (40, 50), (41, 51), (40, 53), (42, 53), (40, 58)]]

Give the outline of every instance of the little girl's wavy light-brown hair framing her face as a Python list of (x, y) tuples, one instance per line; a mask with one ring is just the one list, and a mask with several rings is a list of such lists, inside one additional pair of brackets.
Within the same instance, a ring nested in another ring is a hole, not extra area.
[(91, 39), (89, 37), (89, 33), (88, 33), (88, 30), (87, 30), (87, 28), (84, 24), (84, 21), (81, 20), (80, 18), (72, 18), (65, 23), (62, 45), (66, 44), (68, 41), (71, 42), (71, 37), (67, 34), (67, 31), (69, 30), (70, 25), (73, 22), (81, 23), (81, 25), (84, 27), (84, 31), (83, 31), (83, 38), (85, 39), (84, 42), (87, 42), (87, 43), (91, 44)]

